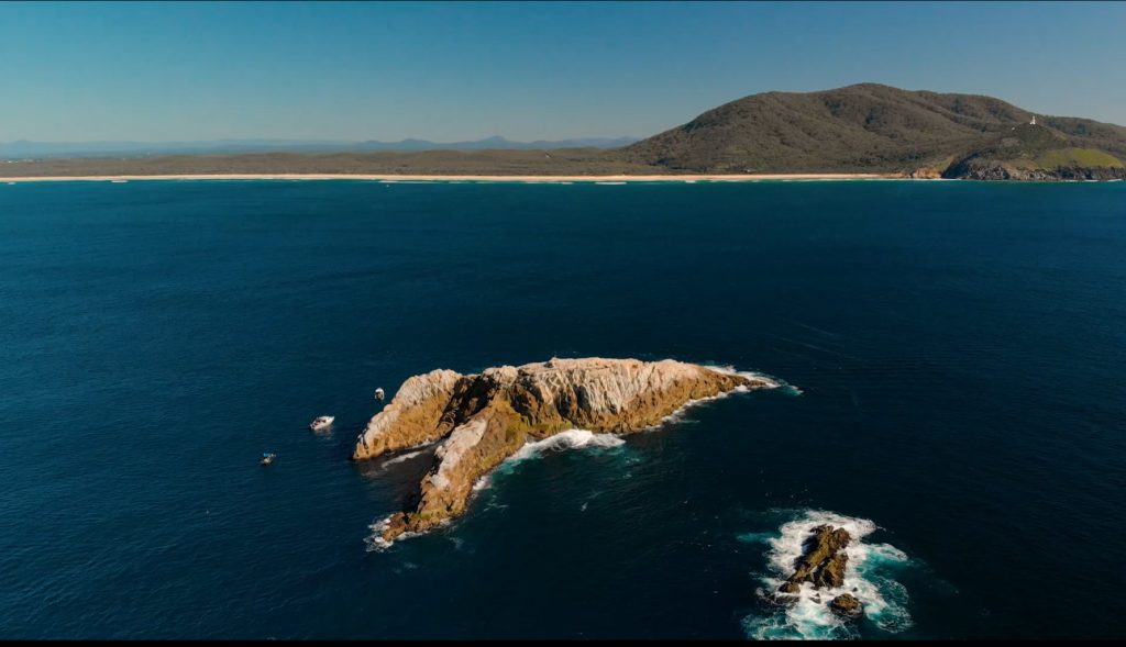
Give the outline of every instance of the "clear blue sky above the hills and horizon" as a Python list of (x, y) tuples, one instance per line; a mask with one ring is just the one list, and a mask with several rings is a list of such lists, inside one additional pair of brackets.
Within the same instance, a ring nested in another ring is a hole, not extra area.
[(1126, 3), (0, 3), (0, 141), (645, 136), (864, 81), (1126, 125)]

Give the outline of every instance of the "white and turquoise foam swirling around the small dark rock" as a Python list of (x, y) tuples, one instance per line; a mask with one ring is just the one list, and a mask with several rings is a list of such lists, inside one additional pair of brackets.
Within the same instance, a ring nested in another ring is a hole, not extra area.
[[(848, 530), (851, 541), (844, 552), (848, 569), (840, 588), (814, 590), (813, 584), (802, 585), (796, 602), (779, 604), (774, 592), (794, 573), (794, 563), (802, 556), (802, 545), (819, 525), (835, 525)], [(832, 512), (810, 510), (798, 519), (784, 523), (778, 534), (743, 534), (741, 541), (761, 541), (770, 547), (767, 554), (769, 574), (761, 576), (759, 596), (776, 611), (766, 617), (743, 619), (748, 638), (828, 640), (858, 638), (856, 624), (839, 618), (829, 609), (833, 597), (851, 593), (864, 604), (864, 615), (877, 628), (897, 633), (911, 627), (906, 610), (908, 593), (892, 578), (894, 568), (908, 561), (908, 556), (888, 543), (866, 543), (864, 539), (876, 530), (867, 519), (855, 519)]]

